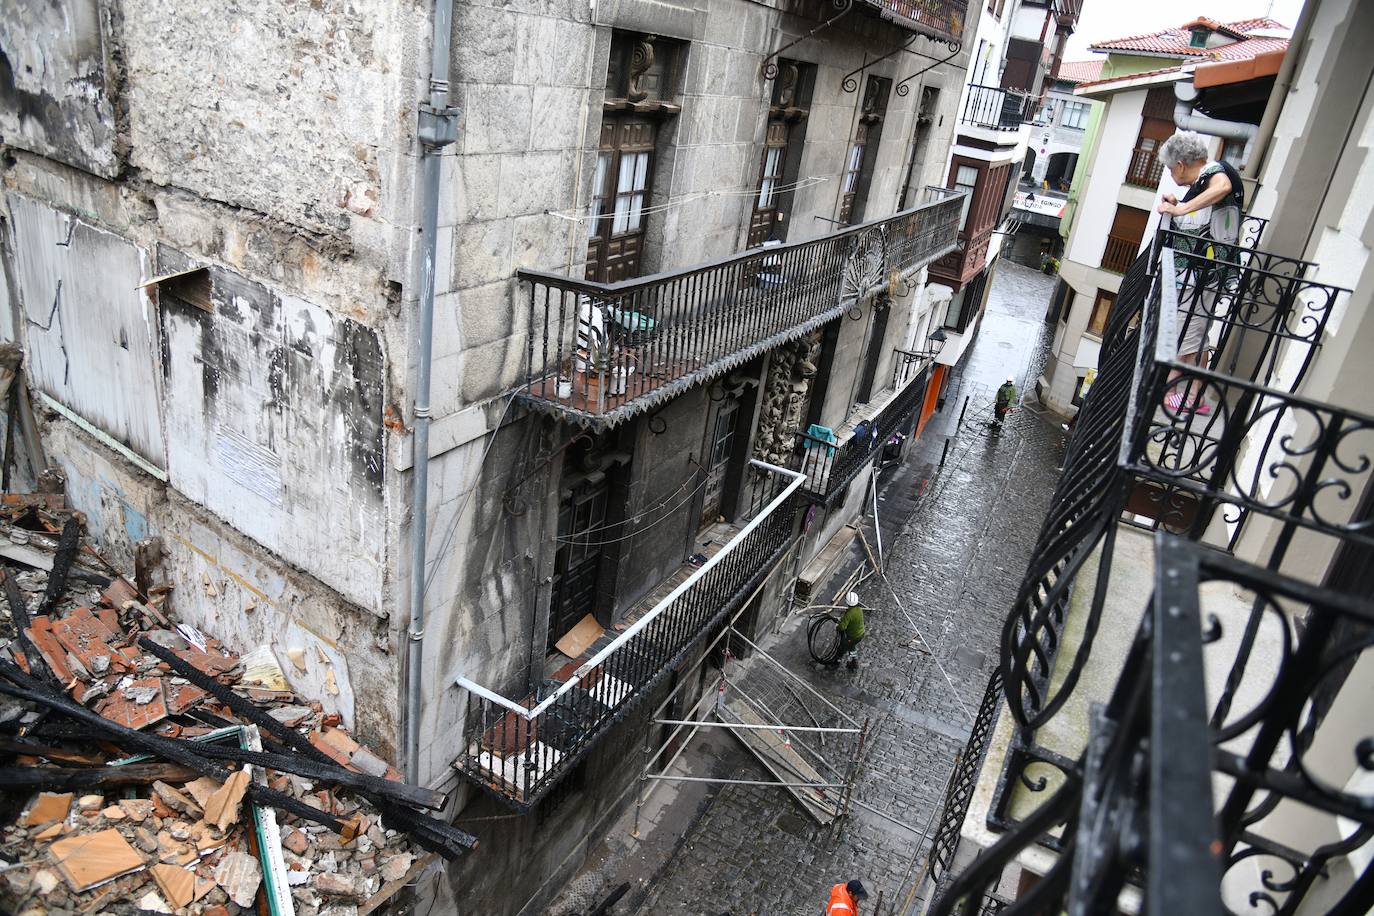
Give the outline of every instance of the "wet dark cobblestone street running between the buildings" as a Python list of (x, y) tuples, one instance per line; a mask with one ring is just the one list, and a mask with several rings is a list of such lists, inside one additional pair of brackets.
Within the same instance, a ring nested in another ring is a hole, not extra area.
[[(1044, 323), (1052, 290), (1054, 277), (999, 265), (978, 335), (949, 376), (944, 409), (905, 460), (882, 472), (886, 577), (870, 575), (857, 589), (871, 608), (859, 669), (812, 662), (801, 612), (763, 640), (819, 694), (868, 721), (856, 805), (842, 828), (816, 827), (778, 788), (660, 783), (640, 812), (640, 836), (631, 836), (627, 813), (592, 851), (584, 886), (631, 884), (610, 912), (809, 916), (823, 909), (831, 884), (852, 878), (870, 891), (866, 912), (879, 894), (885, 915), (919, 912), (912, 891), (926, 834), (996, 663), (1000, 622), (1063, 452), (1059, 417), (1033, 402), (1052, 334)], [(989, 423), (992, 400), (1007, 375), (1032, 402), (999, 431)], [(864, 525), (875, 545), (872, 519)], [(856, 542), (822, 595), (866, 567)], [(761, 663), (754, 658), (741, 667)], [(703, 729), (677, 768), (712, 779), (772, 779), (724, 729)]]

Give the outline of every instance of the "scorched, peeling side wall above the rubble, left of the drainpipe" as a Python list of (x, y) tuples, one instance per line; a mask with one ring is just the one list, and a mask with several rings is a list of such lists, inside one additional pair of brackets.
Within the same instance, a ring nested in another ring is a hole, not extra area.
[[(0, 23), (7, 339), (111, 559), (396, 742), (416, 40), (376, 0), (22, 0)], [(202, 294), (150, 280), (185, 271)]]

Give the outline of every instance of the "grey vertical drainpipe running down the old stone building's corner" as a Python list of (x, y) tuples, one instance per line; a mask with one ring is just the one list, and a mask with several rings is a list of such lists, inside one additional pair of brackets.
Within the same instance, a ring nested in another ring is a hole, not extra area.
[(448, 58), (453, 27), (453, 0), (434, 1), (430, 54), (430, 96), (422, 103), (416, 137), (420, 141), (420, 313), (416, 336), (415, 435), (411, 437), (411, 619), (405, 659), (405, 781), (419, 781), (420, 665), (425, 655), (425, 553), (429, 526), (430, 365), (434, 343), (434, 257), (438, 235), (440, 165), (444, 147), (458, 139), (458, 108), (448, 104)]

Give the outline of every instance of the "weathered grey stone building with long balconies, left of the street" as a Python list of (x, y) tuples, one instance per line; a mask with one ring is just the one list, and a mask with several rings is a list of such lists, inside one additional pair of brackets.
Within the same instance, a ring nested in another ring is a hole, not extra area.
[[(566, 629), (591, 615), (614, 637), (754, 519), (772, 552), (717, 610), (750, 626), (786, 612), (797, 569), (857, 512), (877, 431), (908, 431), (929, 407), (943, 302), (925, 268), (955, 244), (959, 198), (926, 187), (947, 184), (973, 38), (962, 7), (458, 5), (460, 128), (441, 162), (430, 441), (415, 456), (434, 10), (21, 0), (0, 22), (0, 332), (23, 346), (38, 417), (25, 470), (59, 466), (117, 562), (158, 538), (183, 619), (238, 650), (313, 650), (306, 670), (283, 665), (293, 687), (363, 739), (400, 759), (418, 717), (405, 762), (455, 790), (455, 817), (523, 810), (452, 869), (458, 893), (518, 912), (638, 775), (624, 742), (653, 691), (694, 676), (690, 652), (617, 698), (614, 725), (578, 740), (576, 769), (532, 803), (495, 770), (455, 768), (486, 725), (455, 678), (517, 700), (566, 683), (552, 648)], [(932, 55), (947, 59), (922, 71)], [(691, 371), (651, 369), (649, 347), (682, 328), (669, 299), (705, 283), (701, 264), (732, 273), (710, 275), (688, 323), (732, 336), (673, 357), (701, 356)], [(552, 324), (534, 299), (550, 288), (569, 304)], [(589, 390), (587, 347), (536, 372), (536, 341), (627, 320), (646, 339), (617, 345), (638, 360), (611, 394), (620, 412), (554, 391), (563, 375)], [(820, 446), (798, 435), (813, 427)], [(764, 453), (791, 477), (750, 464)]]

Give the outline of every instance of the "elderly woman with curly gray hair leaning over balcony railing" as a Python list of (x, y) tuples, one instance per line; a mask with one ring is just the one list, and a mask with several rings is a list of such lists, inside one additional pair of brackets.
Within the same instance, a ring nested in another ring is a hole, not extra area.
[[(1169, 170), (1175, 184), (1187, 191), (1183, 199), (1165, 194), (1160, 213), (1173, 217), (1173, 266), (1180, 287), (1215, 286), (1220, 290), (1234, 273), (1217, 262), (1235, 262), (1235, 243), (1241, 238), (1241, 211), (1245, 190), (1241, 176), (1228, 162), (1212, 159), (1206, 137), (1180, 130), (1164, 141), (1160, 163)], [(1194, 301), (1201, 301), (1194, 297)], [(1179, 309), (1179, 361), (1204, 364), (1208, 316)], [(1173, 390), (1165, 398), (1171, 409), (1209, 413), (1212, 408), (1193, 390)]]

